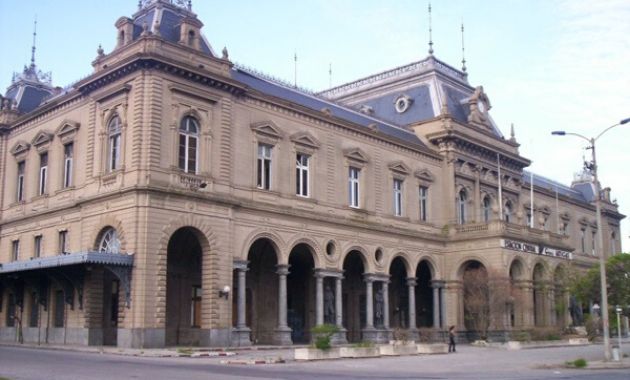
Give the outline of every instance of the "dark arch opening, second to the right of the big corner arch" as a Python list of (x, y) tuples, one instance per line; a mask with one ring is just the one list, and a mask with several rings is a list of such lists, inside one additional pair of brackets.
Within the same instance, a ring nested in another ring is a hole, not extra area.
[(315, 326), (315, 261), (311, 247), (296, 245), (289, 254), (287, 276), (287, 324), (293, 343), (310, 341)]

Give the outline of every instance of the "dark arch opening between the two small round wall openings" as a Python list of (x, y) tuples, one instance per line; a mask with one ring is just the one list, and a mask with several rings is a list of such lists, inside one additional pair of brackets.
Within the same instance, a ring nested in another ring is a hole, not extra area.
[(360, 342), (366, 316), (363, 282), (365, 266), (361, 252), (349, 252), (343, 261), (343, 270), (343, 325), (347, 329), (348, 342)]

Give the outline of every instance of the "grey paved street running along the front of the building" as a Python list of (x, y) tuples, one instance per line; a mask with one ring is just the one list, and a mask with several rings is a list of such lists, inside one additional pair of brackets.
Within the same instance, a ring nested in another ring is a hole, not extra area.
[[(461, 346), (456, 354), (226, 365), (222, 358), (151, 358), (0, 346), (0, 377), (8, 379), (624, 379), (629, 369), (545, 368), (602, 356), (601, 346), (505, 351)], [(236, 357), (290, 358), (290, 351), (249, 351)], [(627, 359), (626, 359), (627, 360)]]

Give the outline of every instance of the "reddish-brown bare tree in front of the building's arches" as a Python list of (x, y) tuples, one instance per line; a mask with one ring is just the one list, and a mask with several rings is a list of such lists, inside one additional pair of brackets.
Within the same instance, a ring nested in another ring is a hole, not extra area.
[(464, 313), (469, 330), (485, 340), (490, 329), (505, 329), (508, 304), (514, 302), (507, 277), (490, 273), (483, 267), (464, 272)]

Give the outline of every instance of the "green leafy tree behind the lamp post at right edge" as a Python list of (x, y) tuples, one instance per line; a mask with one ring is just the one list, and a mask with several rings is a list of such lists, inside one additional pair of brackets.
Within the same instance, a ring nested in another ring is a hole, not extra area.
[[(628, 313), (630, 307), (630, 254), (621, 253), (611, 256), (606, 261), (606, 283), (608, 285), (608, 304), (621, 305)], [(584, 303), (600, 301), (599, 266), (594, 266), (578, 276), (572, 290)]]

